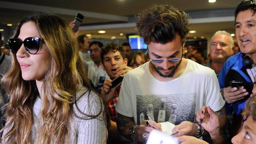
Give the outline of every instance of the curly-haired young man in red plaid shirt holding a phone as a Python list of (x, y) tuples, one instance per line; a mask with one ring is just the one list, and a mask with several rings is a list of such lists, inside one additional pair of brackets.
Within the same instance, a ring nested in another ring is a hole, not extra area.
[(106, 70), (107, 75), (110, 77), (110, 79), (107, 79), (103, 84), (101, 96), (106, 99), (110, 119), (115, 122), (118, 114), (115, 107), (118, 101), (121, 83), (110, 88), (112, 86), (111, 82), (117, 76), (124, 76), (125, 73), (132, 68), (127, 66), (128, 60), (125, 58), (122, 47), (118, 46), (114, 42), (106, 44), (100, 49), (100, 57), (101, 66)]

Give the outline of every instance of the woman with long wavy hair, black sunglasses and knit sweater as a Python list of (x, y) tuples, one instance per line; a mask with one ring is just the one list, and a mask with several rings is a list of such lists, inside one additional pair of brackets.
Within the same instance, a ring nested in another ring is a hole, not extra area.
[(106, 108), (85, 77), (69, 25), (55, 15), (32, 15), (9, 46), (2, 143), (106, 143)]

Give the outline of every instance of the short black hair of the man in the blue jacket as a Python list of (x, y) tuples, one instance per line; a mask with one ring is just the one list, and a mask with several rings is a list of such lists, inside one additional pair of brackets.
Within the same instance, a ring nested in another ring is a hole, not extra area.
[(245, 0), (245, 1), (242, 1), (240, 4), (238, 4), (237, 9), (235, 11), (235, 21), (240, 11), (246, 11), (249, 9), (253, 11), (252, 15), (254, 15), (256, 12), (256, 0)]

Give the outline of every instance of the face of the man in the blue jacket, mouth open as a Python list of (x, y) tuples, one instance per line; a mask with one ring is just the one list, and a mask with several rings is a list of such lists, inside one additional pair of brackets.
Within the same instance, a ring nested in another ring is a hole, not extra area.
[(256, 53), (256, 15), (251, 9), (240, 11), (236, 18), (236, 38), (244, 54)]

